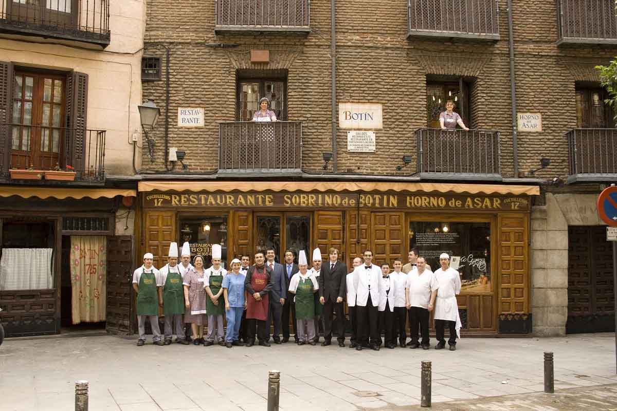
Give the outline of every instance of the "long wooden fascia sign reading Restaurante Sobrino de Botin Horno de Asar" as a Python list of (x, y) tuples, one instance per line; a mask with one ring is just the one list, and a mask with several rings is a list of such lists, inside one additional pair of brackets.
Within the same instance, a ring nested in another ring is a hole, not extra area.
[(425, 193), (167, 193), (144, 194), (147, 208), (404, 208), (417, 210), (526, 211), (529, 198)]

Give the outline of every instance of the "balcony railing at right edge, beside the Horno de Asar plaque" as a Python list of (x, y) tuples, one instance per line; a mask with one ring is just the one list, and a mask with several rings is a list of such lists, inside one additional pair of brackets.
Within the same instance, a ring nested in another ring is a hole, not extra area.
[(568, 182), (617, 179), (617, 129), (568, 131)]

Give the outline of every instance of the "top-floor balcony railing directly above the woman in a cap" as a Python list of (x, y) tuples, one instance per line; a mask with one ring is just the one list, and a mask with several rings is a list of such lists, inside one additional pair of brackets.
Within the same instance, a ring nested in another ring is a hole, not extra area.
[(310, 31), (310, 0), (215, 0), (215, 31)]

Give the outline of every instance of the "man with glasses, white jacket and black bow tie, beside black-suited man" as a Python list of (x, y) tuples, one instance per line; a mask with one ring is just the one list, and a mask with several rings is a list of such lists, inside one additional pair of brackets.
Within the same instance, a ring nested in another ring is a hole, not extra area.
[[(373, 251), (364, 252), (364, 264), (354, 270), (355, 312), (358, 316), (358, 351), (362, 347), (379, 351), (377, 331), (381, 268), (372, 263)], [(370, 337), (370, 340), (369, 340)]]

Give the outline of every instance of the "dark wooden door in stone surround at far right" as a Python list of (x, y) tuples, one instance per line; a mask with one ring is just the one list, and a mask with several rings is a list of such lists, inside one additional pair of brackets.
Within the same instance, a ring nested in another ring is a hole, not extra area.
[(615, 331), (613, 256), (606, 227), (568, 227), (566, 333)]

